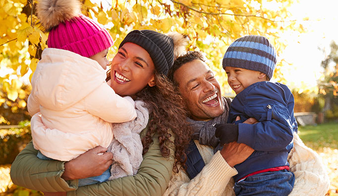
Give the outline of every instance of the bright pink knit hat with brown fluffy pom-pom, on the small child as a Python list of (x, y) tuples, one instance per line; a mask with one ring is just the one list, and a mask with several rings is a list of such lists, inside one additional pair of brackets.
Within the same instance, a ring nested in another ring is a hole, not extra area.
[(40, 0), (37, 11), (50, 31), (48, 47), (91, 57), (113, 45), (108, 31), (83, 15), (78, 0)]

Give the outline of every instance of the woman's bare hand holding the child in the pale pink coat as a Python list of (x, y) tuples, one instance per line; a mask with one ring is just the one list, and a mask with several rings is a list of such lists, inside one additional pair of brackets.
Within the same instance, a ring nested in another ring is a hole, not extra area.
[(75, 180), (103, 174), (113, 163), (113, 154), (106, 151), (107, 148), (97, 146), (64, 163), (64, 172), (61, 178)]

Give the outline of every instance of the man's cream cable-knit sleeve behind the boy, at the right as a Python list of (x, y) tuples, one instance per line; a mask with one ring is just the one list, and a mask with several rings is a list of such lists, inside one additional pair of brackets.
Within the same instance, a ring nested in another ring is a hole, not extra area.
[(296, 177), (289, 196), (324, 196), (327, 193), (330, 180), (321, 158), (315, 151), (305, 146), (296, 133), (288, 162), (290, 171)]

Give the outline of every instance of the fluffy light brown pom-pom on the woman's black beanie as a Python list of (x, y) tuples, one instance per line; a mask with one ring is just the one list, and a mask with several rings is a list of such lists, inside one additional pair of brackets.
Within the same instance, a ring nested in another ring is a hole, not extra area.
[(182, 35), (177, 32), (169, 32), (166, 35), (173, 41), (173, 55), (174, 59), (177, 59), (177, 57), (186, 52), (185, 46), (188, 44), (189, 38), (187, 35)]

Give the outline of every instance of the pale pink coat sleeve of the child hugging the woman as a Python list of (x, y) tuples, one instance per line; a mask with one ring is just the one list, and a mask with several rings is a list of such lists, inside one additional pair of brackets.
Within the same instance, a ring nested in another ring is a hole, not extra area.
[(123, 123), (136, 118), (133, 100), (117, 95), (106, 82), (85, 98), (85, 109), (110, 123)]

